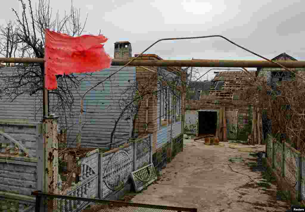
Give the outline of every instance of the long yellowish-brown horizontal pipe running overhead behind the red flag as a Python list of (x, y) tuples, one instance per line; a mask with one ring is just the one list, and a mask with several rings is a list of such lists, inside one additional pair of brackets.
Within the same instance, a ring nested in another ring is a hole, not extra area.
[[(3, 63), (44, 63), (41, 58), (0, 58)], [(112, 66), (124, 66), (127, 59), (113, 59)], [(278, 64), (287, 68), (304, 68), (304, 60), (282, 60)], [(246, 68), (279, 68), (280, 65), (267, 60), (134, 60), (129, 66), (175, 66), (175, 67), (246, 67)]]

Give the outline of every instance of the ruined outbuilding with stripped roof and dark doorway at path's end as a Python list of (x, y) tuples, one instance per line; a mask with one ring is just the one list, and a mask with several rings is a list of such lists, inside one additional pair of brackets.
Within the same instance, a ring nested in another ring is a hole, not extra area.
[[(254, 72), (250, 73), (254, 76)], [(200, 98), (188, 99), (186, 102), (186, 133), (199, 137), (219, 136), (219, 124), (222, 121), (220, 110), (225, 107), (227, 139), (247, 139), (248, 135), (242, 133), (246, 130), (245, 124), (249, 123), (249, 108), (246, 102), (236, 100), (234, 93), (234, 89), (243, 89), (247, 79), (249, 76), (242, 71), (224, 71), (217, 72), (212, 81), (202, 82), (209, 87), (202, 87)]]

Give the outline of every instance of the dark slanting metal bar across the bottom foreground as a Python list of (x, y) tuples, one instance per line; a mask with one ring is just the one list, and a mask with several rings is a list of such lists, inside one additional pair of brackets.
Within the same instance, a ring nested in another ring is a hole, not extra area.
[(84, 198), (84, 197), (64, 196), (64, 195), (48, 194), (48, 193), (40, 193), (40, 192), (33, 192), (32, 195), (50, 197), (50, 198), (58, 198), (58, 199), (71, 199), (71, 200), (84, 201), (84, 202), (88, 202), (88, 203), (105, 203), (105, 204), (112, 203), (114, 206), (131, 206), (131, 207), (155, 208), (155, 209), (163, 209), (163, 210), (178, 210), (178, 211), (190, 211), (190, 212), (197, 211), (196, 208), (184, 208), (184, 207), (172, 207), (172, 206), (165, 206), (165, 205), (130, 203), (130, 202), (120, 202), (120, 201), (104, 200), (104, 199), (89, 199), (89, 198)]

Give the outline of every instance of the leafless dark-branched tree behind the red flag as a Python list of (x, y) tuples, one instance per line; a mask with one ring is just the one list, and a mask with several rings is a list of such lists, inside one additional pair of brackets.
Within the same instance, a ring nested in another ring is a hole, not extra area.
[[(71, 1), (69, 12), (59, 15), (53, 14), (49, 0), (39, 0), (36, 5), (32, 1), (19, 0), (22, 10), (20, 13), (12, 9), (16, 15), (16, 21), (10, 21), (7, 26), (0, 27), (0, 54), (5, 57), (30, 57), (44, 58), (45, 29), (59, 33), (79, 36), (84, 32), (88, 14), (84, 22), (81, 22), (81, 11), (76, 9)], [(17, 65), (10, 74), (1, 74), (4, 82), (2, 92), (14, 101), (18, 96), (41, 95), (43, 91), (44, 64), (40, 65)], [(71, 111), (74, 97), (71, 93), (73, 88), (80, 84), (80, 77), (74, 74), (57, 75), (58, 88), (49, 91), (48, 95), (54, 96), (56, 102), (53, 109), (56, 111)], [(53, 102), (53, 103), (54, 103)], [(65, 114), (59, 114), (65, 115)]]

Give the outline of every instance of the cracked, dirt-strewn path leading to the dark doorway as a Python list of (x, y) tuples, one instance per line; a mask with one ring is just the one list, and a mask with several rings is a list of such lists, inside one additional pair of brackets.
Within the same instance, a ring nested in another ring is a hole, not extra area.
[(257, 157), (249, 152), (264, 151), (265, 146), (228, 142), (207, 146), (194, 140), (184, 143), (183, 152), (162, 170), (161, 179), (132, 202), (211, 212), (289, 209), (285, 201), (278, 200), (276, 183), (269, 183), (262, 172), (253, 171)]

